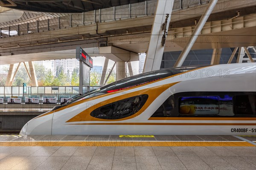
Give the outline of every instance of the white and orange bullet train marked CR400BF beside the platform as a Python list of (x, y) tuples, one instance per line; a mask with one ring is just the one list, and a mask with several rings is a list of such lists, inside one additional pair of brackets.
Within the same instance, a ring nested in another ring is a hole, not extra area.
[(35, 117), (20, 135), (256, 135), (256, 63), (118, 80)]

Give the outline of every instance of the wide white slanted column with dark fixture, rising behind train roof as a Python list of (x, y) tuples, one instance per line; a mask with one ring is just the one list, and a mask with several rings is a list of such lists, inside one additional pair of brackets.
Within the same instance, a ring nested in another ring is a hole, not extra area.
[(151, 30), (151, 37), (148, 44), (148, 51), (146, 54), (143, 72), (160, 69), (163, 57), (163, 50), (165, 47), (165, 45), (161, 44), (161, 40), (164, 34), (164, 31), (161, 29), (161, 26), (162, 23), (165, 23), (166, 14), (169, 14), (166, 23), (166, 31), (168, 31), (171, 20), (173, 3), (174, 0), (158, 0), (157, 2), (157, 9), (154, 14), (154, 23)]

